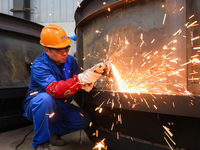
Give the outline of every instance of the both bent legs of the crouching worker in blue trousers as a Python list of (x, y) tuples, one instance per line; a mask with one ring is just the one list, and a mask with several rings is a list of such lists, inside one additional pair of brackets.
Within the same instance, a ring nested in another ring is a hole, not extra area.
[[(63, 136), (86, 128), (90, 122), (88, 114), (79, 107), (59, 102), (45, 92), (32, 98), (25, 112), (26, 117), (33, 121), (35, 135), (32, 146), (34, 148), (50, 140), (50, 131)], [(53, 112), (55, 115), (49, 118)]]

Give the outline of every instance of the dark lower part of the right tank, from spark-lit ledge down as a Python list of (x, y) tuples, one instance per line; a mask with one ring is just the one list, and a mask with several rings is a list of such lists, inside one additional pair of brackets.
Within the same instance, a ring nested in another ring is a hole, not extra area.
[[(192, 105), (189, 106), (189, 97), (167, 95), (159, 97), (155, 95), (158, 99), (152, 101), (151, 95), (141, 94), (141, 97), (146, 98), (150, 108), (144, 101), (132, 108), (131, 105), (134, 100), (130, 99), (129, 94), (127, 94), (129, 98), (126, 99), (121, 93), (119, 94), (120, 100), (117, 100), (117, 96), (112, 96), (110, 92), (98, 92), (84, 93), (83, 107), (91, 115), (92, 122), (96, 125), (99, 140), (105, 138), (108, 147), (115, 150), (129, 149), (130, 147), (132, 149), (149, 150), (169, 149), (163, 139), (165, 130), (162, 126), (164, 125), (169, 127), (170, 132), (173, 133), (172, 138), (176, 146), (173, 144), (171, 146), (174, 149), (175, 147), (188, 150), (198, 149), (200, 138), (198, 132), (200, 125), (198, 99), (195, 100), (196, 107), (193, 108)], [(134, 96), (132, 94), (132, 97)], [(137, 100), (140, 99), (138, 96), (135, 97)], [(165, 98), (167, 98), (166, 101)], [(166, 103), (163, 103), (164, 101)], [(174, 101), (175, 107), (173, 107), (172, 101)], [(158, 106), (157, 110), (153, 107), (153, 104)], [(99, 110), (94, 111), (100, 105), (101, 113)], [(166, 112), (163, 113), (163, 111)], [(121, 116), (122, 123), (120, 123), (118, 115)], [(192, 117), (189, 117), (190, 115)], [(117, 136), (117, 134), (119, 135)]]

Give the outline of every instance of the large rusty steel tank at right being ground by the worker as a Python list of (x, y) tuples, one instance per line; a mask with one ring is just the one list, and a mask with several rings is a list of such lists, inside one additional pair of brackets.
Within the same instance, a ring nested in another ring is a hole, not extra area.
[[(181, 78), (165, 74), (163, 82), (140, 81), (148, 84), (151, 92), (147, 93), (116, 92), (113, 89), (117, 85), (111, 88), (105, 77), (90, 93), (83, 93), (83, 108), (93, 119), (94, 131), (99, 131), (98, 140), (106, 138), (110, 149), (198, 149), (199, 65), (190, 61), (193, 56), (199, 59), (194, 51), (199, 43), (194, 40), (199, 26), (192, 26), (199, 19), (198, 3), (197, 0), (84, 0), (76, 10), (77, 59), (83, 69), (110, 57), (128, 80), (129, 70), (138, 69), (142, 76), (151, 68), (144, 59), (150, 53), (161, 52), (160, 56), (152, 57), (153, 64), (162, 64), (162, 56), (173, 53), (170, 59), (177, 58), (178, 63), (170, 67), (179, 70), (182, 64), (181, 69), (185, 70), (180, 72)], [(174, 40), (177, 42), (173, 43)], [(169, 73), (171, 68), (168, 69)], [(149, 72), (155, 75), (154, 69)], [(177, 89), (175, 84), (184, 88)], [(192, 94), (182, 94), (186, 91)], [(99, 106), (102, 113), (95, 111)], [(165, 127), (174, 133), (173, 140), (167, 137)]]

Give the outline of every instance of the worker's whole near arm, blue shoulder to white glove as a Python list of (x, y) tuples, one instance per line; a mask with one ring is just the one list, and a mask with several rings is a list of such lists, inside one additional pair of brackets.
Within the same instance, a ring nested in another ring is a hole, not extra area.
[[(66, 81), (56, 81), (48, 66), (37, 64), (33, 65), (32, 68), (33, 78), (37, 81), (37, 84), (42, 86), (45, 91), (54, 98), (72, 96), (82, 87), (83, 90), (89, 92), (94, 85), (90, 83), (96, 82), (101, 77), (101, 70), (98, 73), (97, 71), (99, 71), (99, 65), (95, 65), (83, 73), (74, 75)], [(84, 86), (85, 84), (90, 84), (89, 89), (88, 86)]]

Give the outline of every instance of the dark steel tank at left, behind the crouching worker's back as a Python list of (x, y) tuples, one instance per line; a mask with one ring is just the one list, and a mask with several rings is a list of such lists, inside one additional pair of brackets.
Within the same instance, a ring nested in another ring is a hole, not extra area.
[(39, 43), (43, 26), (1, 13), (0, 20), (0, 131), (5, 131), (28, 123), (21, 102), (31, 63), (44, 51)]

